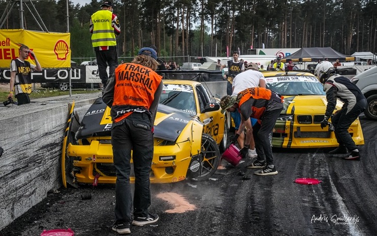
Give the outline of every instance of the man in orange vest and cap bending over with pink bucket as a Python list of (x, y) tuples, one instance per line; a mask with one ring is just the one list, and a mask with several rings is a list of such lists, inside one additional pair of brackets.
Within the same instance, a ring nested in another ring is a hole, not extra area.
[[(276, 175), (278, 171), (274, 165), (274, 156), (270, 144), (269, 135), (275, 126), (280, 112), (283, 110), (283, 97), (265, 88), (248, 88), (238, 93), (237, 96), (226, 95), (221, 98), (220, 106), (222, 112), (234, 112), (238, 109), (241, 115), (241, 124), (235, 138), (247, 128), (245, 143), (249, 143), (253, 135), (255, 148), (257, 149), (257, 160), (248, 165), (247, 168), (260, 168), (254, 172), (256, 175)], [(251, 119), (260, 120), (254, 127)], [(240, 153), (245, 156), (248, 148), (244, 147)]]

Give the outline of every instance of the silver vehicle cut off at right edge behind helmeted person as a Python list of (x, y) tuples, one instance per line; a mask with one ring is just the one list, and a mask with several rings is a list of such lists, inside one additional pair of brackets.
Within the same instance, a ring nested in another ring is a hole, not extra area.
[(351, 79), (364, 94), (367, 107), (364, 115), (371, 120), (377, 120), (377, 66), (357, 74)]

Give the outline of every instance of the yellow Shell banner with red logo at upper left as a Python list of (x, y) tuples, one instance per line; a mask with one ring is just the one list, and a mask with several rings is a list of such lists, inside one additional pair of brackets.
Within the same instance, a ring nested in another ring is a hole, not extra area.
[[(9, 68), (24, 44), (35, 53), (43, 69), (71, 67), (69, 33), (46, 33), (27, 30), (0, 30), (0, 68)], [(35, 65), (30, 57), (26, 59)]]

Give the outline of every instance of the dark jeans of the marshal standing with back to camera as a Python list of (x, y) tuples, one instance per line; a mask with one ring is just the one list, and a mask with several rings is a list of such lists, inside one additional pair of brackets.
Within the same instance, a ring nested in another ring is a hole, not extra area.
[(147, 217), (151, 204), (149, 173), (153, 159), (153, 135), (148, 114), (132, 113), (113, 124), (112, 145), (114, 165), (117, 170), (115, 187), (115, 218), (117, 222), (131, 222), (132, 194), (129, 183), (131, 150), (135, 189), (133, 216)]

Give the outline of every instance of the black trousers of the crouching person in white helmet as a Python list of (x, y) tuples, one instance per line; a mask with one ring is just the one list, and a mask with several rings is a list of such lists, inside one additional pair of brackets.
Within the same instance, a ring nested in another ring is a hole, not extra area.
[(358, 101), (351, 111), (347, 112), (347, 108), (343, 108), (331, 118), (331, 122), (334, 125), (336, 141), (338, 141), (339, 145), (346, 146), (349, 151), (353, 151), (357, 149), (357, 147), (348, 132), (348, 128), (351, 126), (352, 122), (364, 112), (366, 104), (366, 99), (363, 99)]

